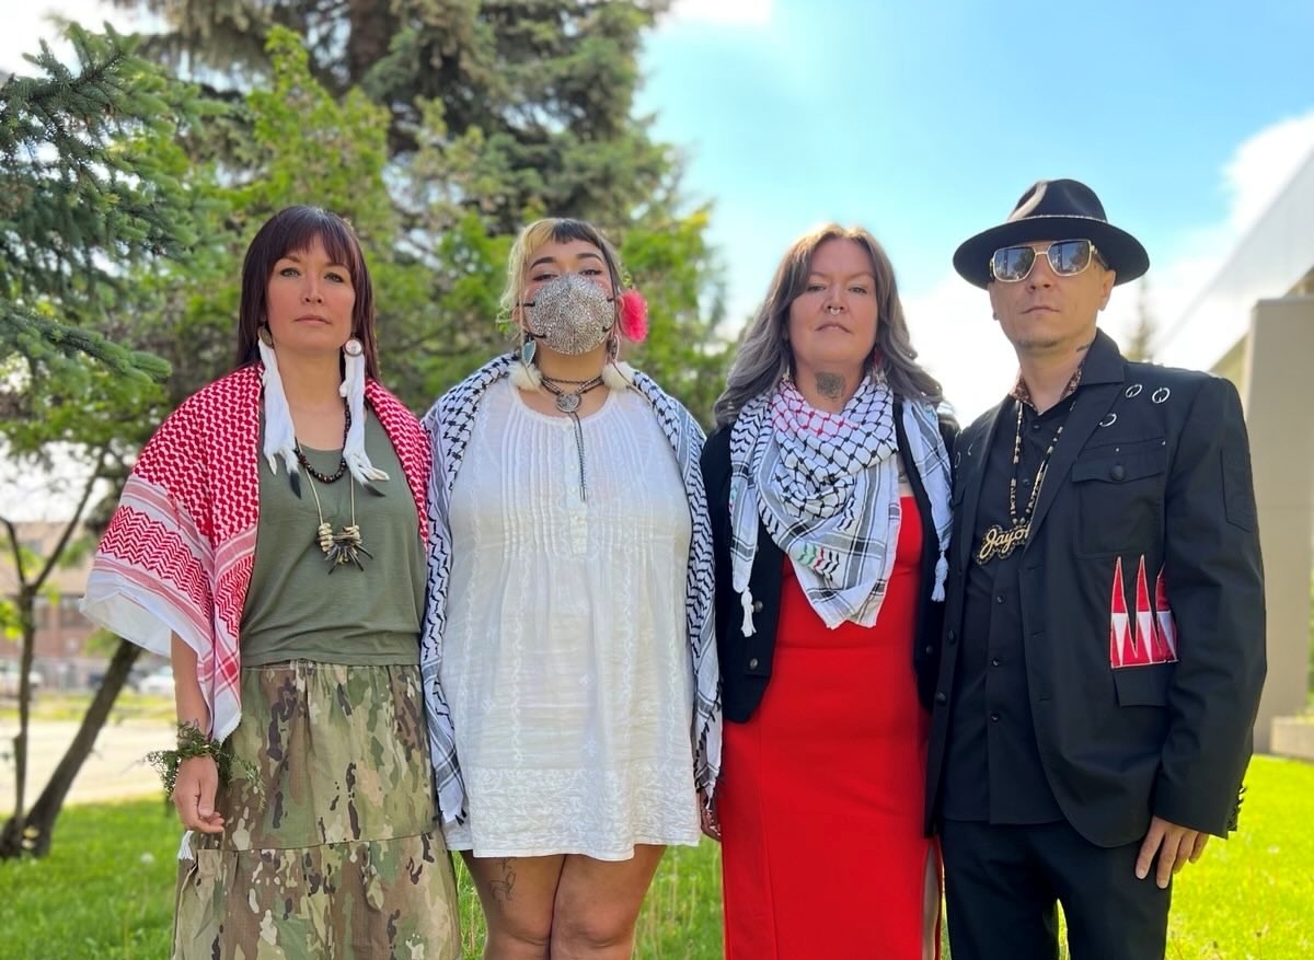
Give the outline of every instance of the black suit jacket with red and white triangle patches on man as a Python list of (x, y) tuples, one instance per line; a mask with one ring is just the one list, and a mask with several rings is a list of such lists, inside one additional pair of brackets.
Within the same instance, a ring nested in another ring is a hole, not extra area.
[[(954, 450), (928, 830), (982, 471), (993, 431), (1012, 428), (1000, 410), (964, 429)], [(1235, 387), (1126, 361), (1099, 334), (1022, 550), (1026, 680), (1041, 763), (1063, 816), (1104, 847), (1142, 838), (1151, 814), (1226, 835), (1265, 670), (1263, 570)]]

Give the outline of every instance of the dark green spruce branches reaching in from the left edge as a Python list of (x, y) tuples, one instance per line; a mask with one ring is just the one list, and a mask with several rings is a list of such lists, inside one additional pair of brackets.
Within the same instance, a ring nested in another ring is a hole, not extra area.
[[(194, 239), (177, 181), (138, 148), (189, 95), (114, 33), (74, 28), (70, 39), (76, 72), (42, 43), (30, 62), (43, 75), (0, 85), (0, 362), (54, 349), (159, 378), (158, 361), (75, 324), (122, 306), (125, 265)], [(13, 403), (5, 394), (0, 404)]]

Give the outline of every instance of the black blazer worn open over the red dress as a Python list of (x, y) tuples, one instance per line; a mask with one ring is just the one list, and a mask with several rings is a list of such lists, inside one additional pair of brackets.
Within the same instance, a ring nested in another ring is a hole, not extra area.
[[(908, 449), (903, 427), (903, 402), (895, 399), (895, 429), (899, 449)], [(955, 428), (941, 422), (945, 448), (953, 450)], [(766, 532), (761, 520), (757, 529), (757, 554), (749, 574), (753, 591), (753, 626), (756, 633), (745, 637), (740, 629), (744, 612), (738, 594), (731, 586), (731, 428), (720, 427), (707, 437), (703, 447), (703, 482), (707, 486), (707, 507), (712, 521), (712, 554), (716, 565), (716, 653), (721, 666), (721, 704), (725, 720), (745, 722), (771, 679), (771, 659), (775, 653), (775, 628), (781, 619), (781, 580), (784, 553)], [(911, 465), (909, 465), (911, 466)], [(922, 704), (929, 709), (940, 662), (941, 617), (945, 604), (933, 603), (930, 591), (936, 582), (936, 561), (940, 540), (930, 516), (930, 500), (915, 469), (908, 470), (908, 483), (917, 499), (921, 515), (921, 583), (922, 599), (917, 612), (917, 630), (908, 641), (908, 668), (916, 676)]]

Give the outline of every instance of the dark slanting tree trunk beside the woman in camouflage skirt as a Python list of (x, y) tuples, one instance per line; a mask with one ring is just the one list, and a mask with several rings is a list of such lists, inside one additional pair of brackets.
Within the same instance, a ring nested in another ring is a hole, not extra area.
[(133, 668), (142, 649), (126, 640), (118, 641), (118, 647), (105, 670), (105, 680), (96, 691), (87, 713), (83, 716), (81, 726), (72, 743), (64, 751), (59, 764), (46, 781), (46, 787), (32, 805), (26, 817), (20, 816), (18, 808), (14, 816), (0, 831), (0, 860), (9, 860), (18, 856), (45, 856), (50, 852), (50, 838), (54, 833), (55, 819), (64, 806), (68, 791), (74, 785), (74, 779), (83, 763), (96, 746), (96, 738), (109, 720), (109, 712), (118, 699), (120, 691), (127, 682), (127, 672)]

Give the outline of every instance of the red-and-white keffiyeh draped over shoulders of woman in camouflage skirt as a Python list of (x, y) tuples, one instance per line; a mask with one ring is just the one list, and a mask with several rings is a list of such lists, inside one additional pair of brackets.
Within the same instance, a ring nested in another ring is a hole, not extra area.
[[(100, 542), (83, 613), (168, 657), (176, 633), (197, 654), (213, 739), (238, 725), (238, 630), (260, 516), (259, 364), (189, 397), (142, 449)], [(376, 381), (365, 399), (392, 440), (427, 541), (428, 437)], [(384, 487), (386, 489), (386, 486)]]

